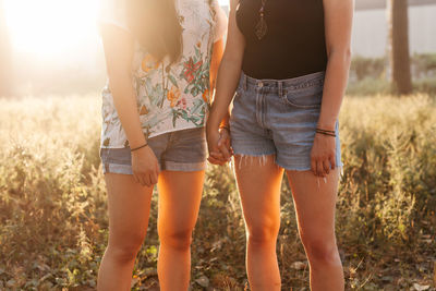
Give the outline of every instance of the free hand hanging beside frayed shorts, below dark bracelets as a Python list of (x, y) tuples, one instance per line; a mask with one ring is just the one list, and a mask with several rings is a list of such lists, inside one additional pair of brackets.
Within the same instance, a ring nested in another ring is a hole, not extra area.
[(326, 177), (336, 168), (336, 138), (315, 134), (311, 151), (311, 170), (315, 175)]

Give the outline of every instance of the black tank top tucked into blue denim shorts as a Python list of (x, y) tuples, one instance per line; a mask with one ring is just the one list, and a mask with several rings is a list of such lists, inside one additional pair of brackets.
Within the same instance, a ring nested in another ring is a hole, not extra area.
[(283, 80), (325, 71), (323, 0), (266, 0), (268, 31), (259, 40), (255, 26), (261, 5), (261, 0), (240, 0), (237, 10), (237, 24), (246, 44), (244, 73), (255, 78)]

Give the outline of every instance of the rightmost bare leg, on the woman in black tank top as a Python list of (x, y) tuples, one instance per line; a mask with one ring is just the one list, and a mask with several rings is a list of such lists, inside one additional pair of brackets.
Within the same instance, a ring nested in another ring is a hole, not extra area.
[(326, 181), (310, 171), (287, 174), (300, 237), (311, 266), (311, 290), (343, 290), (343, 270), (335, 237), (339, 170), (331, 171)]

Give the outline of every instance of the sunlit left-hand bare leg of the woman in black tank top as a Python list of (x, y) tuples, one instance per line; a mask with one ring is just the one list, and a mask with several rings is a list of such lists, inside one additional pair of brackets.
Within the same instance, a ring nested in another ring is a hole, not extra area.
[(246, 268), (251, 290), (279, 291), (276, 245), (283, 171), (275, 163), (275, 156), (234, 159), (247, 232)]

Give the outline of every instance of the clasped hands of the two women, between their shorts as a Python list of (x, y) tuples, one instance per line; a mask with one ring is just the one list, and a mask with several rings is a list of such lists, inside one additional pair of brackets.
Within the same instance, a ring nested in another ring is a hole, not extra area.
[(227, 128), (207, 130), (207, 147), (209, 157), (207, 160), (214, 165), (225, 165), (230, 161), (233, 150), (230, 147), (230, 133)]

